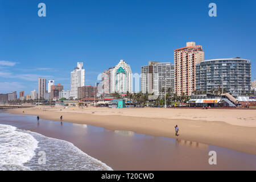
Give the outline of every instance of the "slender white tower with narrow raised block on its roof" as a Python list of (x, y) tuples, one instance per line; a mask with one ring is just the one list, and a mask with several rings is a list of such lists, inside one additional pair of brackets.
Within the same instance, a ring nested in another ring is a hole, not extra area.
[(85, 85), (85, 69), (83, 63), (77, 63), (77, 67), (71, 72), (71, 90), (69, 97), (77, 98), (77, 88)]

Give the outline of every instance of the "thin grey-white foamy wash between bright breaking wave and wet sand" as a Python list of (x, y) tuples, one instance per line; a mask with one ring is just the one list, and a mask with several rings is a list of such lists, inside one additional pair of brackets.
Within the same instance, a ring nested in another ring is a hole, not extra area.
[(85, 171), (112, 171), (113, 169), (89, 156), (77, 148), (73, 143), (56, 138), (46, 137), (32, 131), (24, 131), (33, 135), (39, 142), (36, 150), (46, 152), (46, 164), (38, 164), (35, 156), (29, 164), (25, 166), (32, 170), (85, 170)]

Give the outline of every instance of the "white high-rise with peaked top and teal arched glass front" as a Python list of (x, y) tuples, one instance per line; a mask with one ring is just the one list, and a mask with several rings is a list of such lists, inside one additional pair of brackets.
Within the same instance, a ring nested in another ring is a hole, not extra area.
[(111, 93), (131, 93), (132, 75), (130, 65), (124, 60), (120, 60), (119, 63), (112, 69), (111, 78), (112, 84), (110, 84)]

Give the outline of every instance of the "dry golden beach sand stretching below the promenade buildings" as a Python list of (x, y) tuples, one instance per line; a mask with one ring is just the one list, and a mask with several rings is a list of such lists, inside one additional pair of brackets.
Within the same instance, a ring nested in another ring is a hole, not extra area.
[[(22, 110), (52, 121), (63, 115), (66, 122), (191, 140), (256, 155), (256, 110), (37, 106), (7, 111), (23, 114)], [(179, 126), (179, 137), (175, 136), (175, 125)]]

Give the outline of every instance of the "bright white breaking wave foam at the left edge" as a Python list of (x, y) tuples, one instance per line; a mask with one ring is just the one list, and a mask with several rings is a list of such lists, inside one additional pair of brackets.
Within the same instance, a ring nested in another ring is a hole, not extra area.
[(0, 170), (28, 170), (23, 164), (32, 159), (37, 147), (32, 135), (0, 124)]

